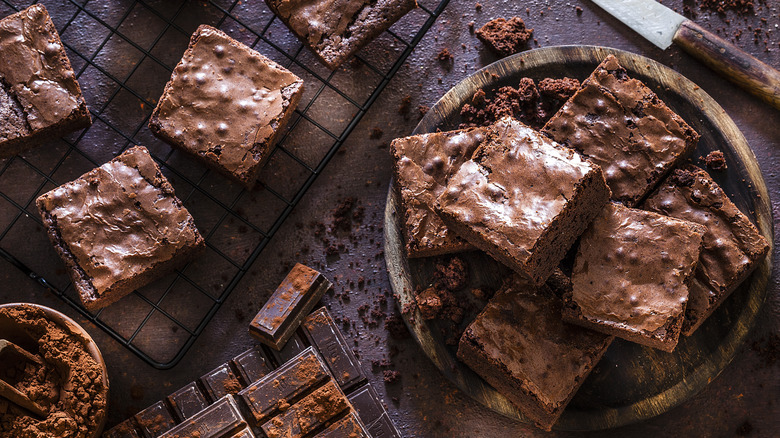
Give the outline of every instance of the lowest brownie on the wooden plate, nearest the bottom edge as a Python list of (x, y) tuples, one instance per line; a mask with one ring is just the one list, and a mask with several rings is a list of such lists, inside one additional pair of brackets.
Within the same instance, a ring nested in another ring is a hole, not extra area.
[(550, 430), (613, 337), (561, 319), (547, 286), (515, 276), (460, 339), (458, 358), (544, 430)]

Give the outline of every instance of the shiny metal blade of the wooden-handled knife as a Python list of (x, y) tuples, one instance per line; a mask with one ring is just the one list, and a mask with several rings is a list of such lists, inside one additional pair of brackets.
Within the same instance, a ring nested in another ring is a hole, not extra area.
[(592, 0), (648, 41), (666, 50), (685, 17), (653, 0)]

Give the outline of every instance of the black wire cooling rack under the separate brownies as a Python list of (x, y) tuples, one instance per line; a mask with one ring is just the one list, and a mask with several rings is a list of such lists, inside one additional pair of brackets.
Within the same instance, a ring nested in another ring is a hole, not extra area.
[[(68, 51), (91, 128), (0, 160), (0, 256), (155, 368), (176, 365), (449, 0), (419, 0), (341, 68), (330, 71), (261, 0), (43, 1)], [(0, 16), (29, 6), (0, 0)], [(279, 62), (305, 94), (247, 191), (151, 135), (149, 116), (202, 23)], [(146, 146), (192, 213), (206, 251), (186, 267), (91, 313), (80, 303), (35, 208), (39, 195), (134, 144)]]

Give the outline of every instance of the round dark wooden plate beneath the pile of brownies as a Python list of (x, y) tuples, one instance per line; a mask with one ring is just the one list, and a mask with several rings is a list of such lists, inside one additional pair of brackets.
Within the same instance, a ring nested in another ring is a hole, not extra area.
[[(536, 81), (564, 76), (583, 80), (610, 53), (632, 77), (652, 88), (701, 134), (696, 157), (712, 150), (723, 151), (728, 170), (713, 172), (713, 177), (772, 243), (772, 210), (766, 184), (737, 126), (694, 83), (633, 53), (594, 46), (561, 46), (502, 59), (447, 92), (413, 134), (457, 128), (461, 107), (478, 89), (517, 86), (525, 76)], [(398, 208), (397, 191), (391, 184), (385, 209), (385, 259), (393, 292), (404, 308), (413, 302), (415, 288), (431, 281), (434, 262), (406, 258), (400, 231), (403, 215)], [(484, 254), (465, 253), (462, 258), (469, 262), (471, 283), (477, 287), (496, 288), (506, 275), (505, 268)], [(681, 338), (674, 353), (617, 339), (568, 405), (555, 429), (598, 430), (629, 424), (659, 415), (697, 393), (723, 370), (745, 339), (764, 302), (770, 271), (771, 259), (767, 257), (701, 328), (692, 336)], [(448, 379), (494, 411), (528, 421), (505, 397), (457, 360), (457, 346), (446, 345), (435, 321), (423, 320), (417, 310), (404, 314), (404, 319), (423, 351)]]

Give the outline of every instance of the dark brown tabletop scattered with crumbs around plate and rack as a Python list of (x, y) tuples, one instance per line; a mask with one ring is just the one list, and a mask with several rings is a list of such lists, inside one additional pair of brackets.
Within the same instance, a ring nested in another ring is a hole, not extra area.
[[(681, 72), (718, 101), (740, 127), (761, 163), (773, 196), (773, 206), (775, 209), (780, 207), (780, 175), (776, 171), (780, 168), (780, 155), (775, 150), (780, 143), (780, 112), (716, 76), (681, 50), (675, 47), (665, 52), (658, 50), (587, 1), (496, 0), (483, 3), (477, 7), (474, 0), (451, 1), (439, 22), (179, 366), (169, 371), (154, 370), (99, 329), (86, 325), (108, 362), (111, 380), (109, 426), (253, 345), (254, 341), (247, 333), (249, 319), (292, 264), (302, 262), (323, 270), (336, 280), (337, 293), (327, 295), (323, 301), (334, 315), (352, 321), (346, 334), (356, 341), (356, 351), (364, 369), (406, 436), (580, 436), (568, 432), (545, 434), (483, 408), (443, 379), (412, 339), (391, 336), (385, 328), (384, 316), (379, 312), (372, 315), (370, 311), (359, 311), (367, 304), (384, 315), (395, 312), (392, 298), (386, 306), (379, 298), (380, 295), (390, 296), (381, 238), (391, 173), (387, 144), (412, 131), (420, 118), (419, 105), (432, 105), (458, 81), (496, 59), (469, 33), (471, 21), (479, 27), (495, 17), (519, 15), (534, 28), (537, 44), (532, 47), (610, 46), (651, 57)], [(666, 0), (663, 3), (680, 11), (684, 5), (688, 6), (698, 23), (710, 30), (720, 30), (742, 49), (780, 68), (778, 2), (756, 1), (755, 14), (746, 16), (701, 11), (698, 2), (692, 0)], [(582, 9), (581, 13), (577, 7)], [(757, 43), (754, 43), (752, 31), (755, 28), (761, 32)], [(741, 37), (734, 38), (740, 32)], [(443, 48), (454, 55), (449, 64), (436, 59)], [(411, 99), (411, 110), (401, 114), (398, 109), (407, 96)], [(371, 138), (372, 132), (373, 137), (379, 133), (374, 128), (381, 129), (379, 138)], [(329, 236), (332, 242), (344, 243), (345, 250), (335, 256), (326, 256), (322, 237), (316, 234), (316, 223), (330, 224), (332, 209), (349, 197), (355, 198), (365, 209), (363, 219), (353, 222), (352, 231)], [(774, 258), (777, 260), (777, 254)], [(365, 280), (363, 287), (358, 285), (360, 277)], [(5, 261), (0, 261), (0, 282), (3, 284), (0, 302), (35, 302), (76, 316)], [(703, 391), (648, 421), (619, 430), (583, 435), (777, 436), (780, 434), (777, 415), (780, 406), (779, 333), (780, 284), (773, 276), (766, 303), (748, 341), (734, 361)], [(372, 367), (372, 362), (383, 359), (390, 365)], [(385, 384), (384, 370), (397, 370), (401, 377), (392, 384)]]

